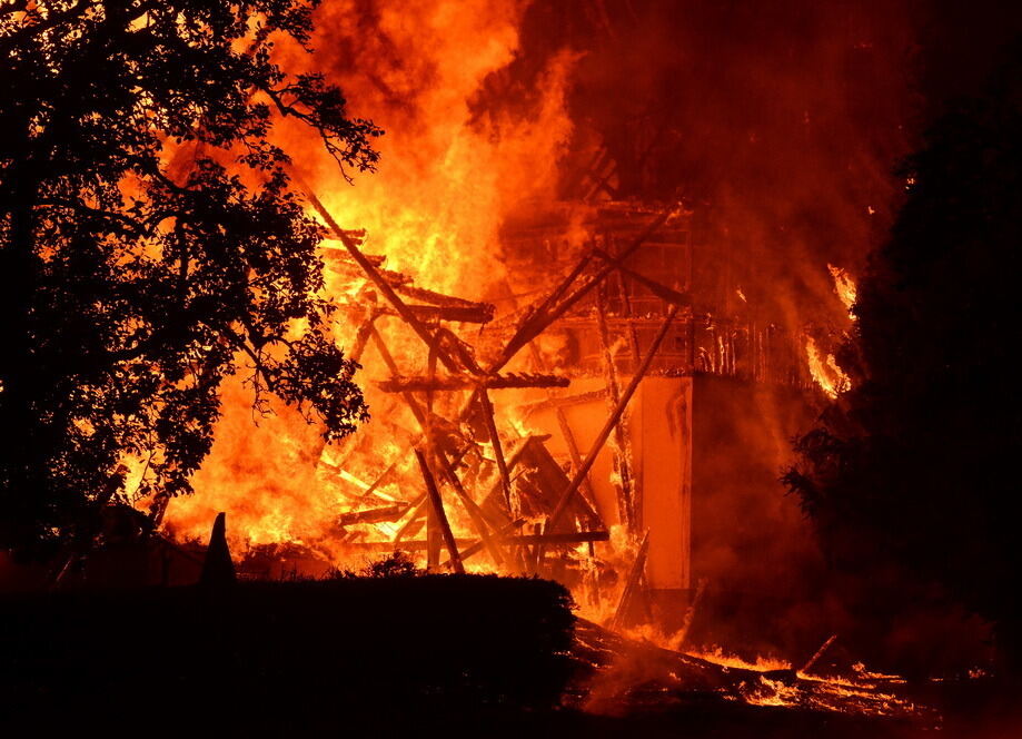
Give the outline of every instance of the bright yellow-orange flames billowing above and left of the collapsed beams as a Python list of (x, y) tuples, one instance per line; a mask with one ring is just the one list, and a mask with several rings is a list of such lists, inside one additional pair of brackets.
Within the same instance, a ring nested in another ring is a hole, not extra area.
[[(281, 144), (300, 162), (296, 174), (330, 215), (346, 228), (360, 229), (360, 248), (385, 255), (381, 268), (443, 294), (475, 300), (506, 295), (497, 230), (520, 200), (550, 195), (558, 155), (572, 130), (564, 91), (573, 58), (562, 55), (550, 63), (543, 93), (526, 115), (480, 121), (473, 98), (483, 80), (515, 55), (520, 3), (376, 6), (373, 33), (357, 28), (365, 19), (356, 10), (320, 9), (315, 46), (321, 50), (316, 63), (331, 72), (357, 106), (353, 115), (371, 117), (387, 131), (379, 144), (380, 171), (351, 187), (304, 129), (285, 122), (278, 132)], [(338, 39), (355, 46), (338, 49)], [(323, 256), (326, 294), (341, 306), (336, 338), (349, 354), (360, 346), (359, 381), (371, 421), (356, 437), (324, 447), (315, 426), (295, 411), (272, 406), (270, 415), (254, 412), (248, 388), (235, 382), (225, 391), (214, 451), (195, 475), (198, 494), (175, 500), (168, 509), (165, 524), (176, 536), (202, 539), (216, 513), (228, 511), (237, 552), (287, 542), (344, 565), (353, 554), (339, 543), (339, 516), (366, 505), (384, 509), (406, 502), (393, 482), (370, 492), (388, 466), (407, 472), (405, 455), (417, 432), (400, 397), (374, 383), (391, 375), (381, 351), (409, 375), (427, 372), (428, 352), (395, 317), (375, 322), (378, 339), (359, 337), (366, 313), (386, 311), (386, 302), (364, 274), (353, 273), (336, 238), (324, 243)], [(525, 420), (507, 407), (498, 407), (497, 415), (502, 427), (527, 433)], [(484, 454), (494, 459), (492, 449)], [(470, 522), (454, 509), (455, 533), (469, 535)], [(390, 541), (401, 523), (360, 528)]]

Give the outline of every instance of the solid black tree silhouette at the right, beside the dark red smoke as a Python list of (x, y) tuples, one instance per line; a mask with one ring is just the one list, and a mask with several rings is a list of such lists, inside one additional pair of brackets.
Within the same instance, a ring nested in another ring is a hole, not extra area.
[(860, 286), (840, 357), (854, 387), (797, 441), (801, 461), (785, 477), (837, 570), (890, 585), (867, 609), (896, 609), (894, 593), (935, 584), (994, 623), (1014, 668), (1020, 131), (1015, 46), (983, 93), (954, 104), (906, 162), (904, 207)]

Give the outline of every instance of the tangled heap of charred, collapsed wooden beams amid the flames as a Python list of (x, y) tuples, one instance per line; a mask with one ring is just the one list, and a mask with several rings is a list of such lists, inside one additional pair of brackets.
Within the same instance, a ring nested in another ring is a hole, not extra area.
[[(564, 414), (559, 414), (572, 456), (567, 470), (545, 445), (547, 437), (507, 427), (502, 433), (493, 396), (508, 390), (546, 391), (546, 403), (558, 407), (555, 391), (568, 387), (569, 378), (544, 371), (535, 339), (598, 290), (612, 273), (627, 270), (626, 259), (676, 217), (677, 208), (663, 210), (617, 256), (591, 247), (554, 289), (519, 312), (514, 326), (494, 332), (499, 338), (487, 335), (485, 342), (473, 346), (452, 324), (486, 324), (495, 314), (494, 305), (423, 289), (407, 276), (387, 272), (381, 257), (363, 253), (361, 234), (344, 230), (311, 194), (310, 200), (346, 252), (330, 262), (331, 267), (361, 273), (363, 285), (347, 306), (359, 326), (351, 354), (360, 359), (373, 343), (390, 373), (377, 381), (378, 390), (400, 398), (417, 424), (415, 434), (409, 434), (414, 439), (408, 456), (415, 460), (414, 465), (397, 459), (375, 480), (355, 480), (346, 467), (357, 451), (357, 436), (334, 452), (333, 462), (323, 460), (339, 477), (360, 487), (349, 495), (350, 510), (337, 519), (339, 542), (354, 549), (425, 552), (429, 569), (455, 572), (464, 571), (466, 561), (485, 553), (494, 566), (509, 572), (545, 574), (568, 582), (583, 580), (586, 572), (595, 573), (594, 544), (607, 541), (609, 531), (587, 494), (587, 475), (612, 435), (619, 450), (626, 449), (622, 423), (628, 402), (673, 322), (687, 307), (686, 296), (642, 278), (669, 303), (669, 309), (626, 386), (622, 386), (614, 365), (607, 365), (606, 395), (613, 407), (589, 449), (578, 446)], [(425, 364), (425, 373), (407, 370), (414, 359), (396, 357), (378, 329), (378, 322), (395, 319), (421, 341), (418, 366)], [(638, 348), (637, 343), (634, 348)], [(536, 371), (508, 371), (524, 349), (530, 352)], [(634, 533), (631, 475), (625, 456), (619, 457), (618, 508)], [(385, 489), (397, 489), (401, 495)], [(466, 525), (453, 525), (453, 515)], [(468, 535), (456, 535), (463, 532)], [(574, 574), (568, 574), (569, 570)], [(639, 580), (641, 563), (633, 570), (637, 573), (633, 579)]]

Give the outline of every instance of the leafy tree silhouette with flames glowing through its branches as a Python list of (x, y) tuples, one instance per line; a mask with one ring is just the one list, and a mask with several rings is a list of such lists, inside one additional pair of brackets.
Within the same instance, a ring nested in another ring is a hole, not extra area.
[(366, 417), (317, 297), (321, 229), (268, 139), (290, 116), (343, 170), (377, 160), (338, 89), (271, 59), (307, 48), (315, 4), (0, 10), (0, 546), (73, 536), (126, 454), (142, 493), (190, 492), (236, 371), (327, 440)]

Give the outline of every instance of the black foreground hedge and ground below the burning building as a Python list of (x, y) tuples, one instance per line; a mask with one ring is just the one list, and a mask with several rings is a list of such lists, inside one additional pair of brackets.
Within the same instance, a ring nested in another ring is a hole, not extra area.
[(795, 686), (805, 706), (750, 706), (738, 687), (757, 679), (593, 624), (576, 635), (567, 592), (542, 580), (0, 600), (0, 728), (18, 730), (8, 736), (1022, 737), (1013, 693), (992, 686), (921, 697), (942, 703), (940, 719), (820, 710), (814, 686)]

